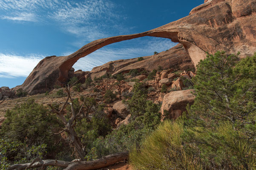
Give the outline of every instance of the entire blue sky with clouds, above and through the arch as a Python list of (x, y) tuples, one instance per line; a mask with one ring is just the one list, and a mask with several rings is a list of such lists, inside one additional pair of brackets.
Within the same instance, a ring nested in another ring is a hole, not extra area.
[[(47, 56), (69, 55), (100, 38), (135, 34), (189, 14), (204, 0), (0, 0), (0, 87), (21, 85)], [(169, 39), (142, 37), (108, 45), (79, 59), (75, 70), (152, 55)]]

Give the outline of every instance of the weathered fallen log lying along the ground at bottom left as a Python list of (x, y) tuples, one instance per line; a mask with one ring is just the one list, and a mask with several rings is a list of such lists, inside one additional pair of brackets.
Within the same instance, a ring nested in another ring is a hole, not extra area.
[(25, 170), (36, 167), (56, 166), (65, 167), (64, 170), (97, 170), (99, 168), (107, 167), (115, 164), (116, 162), (126, 160), (128, 158), (128, 152), (115, 153), (102, 157), (94, 161), (81, 161), (81, 162), (69, 162), (59, 160), (36, 160), (26, 164), (14, 164), (8, 168), (8, 170)]

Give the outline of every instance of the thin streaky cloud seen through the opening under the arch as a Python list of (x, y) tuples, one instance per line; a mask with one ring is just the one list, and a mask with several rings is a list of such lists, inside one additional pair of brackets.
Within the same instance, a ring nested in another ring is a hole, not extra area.
[[(165, 51), (177, 44), (164, 38), (151, 37), (150, 39), (149, 41), (141, 41), (133, 48), (109, 48), (106, 46), (98, 49), (88, 56), (79, 59), (73, 68), (75, 68), (75, 70), (91, 71), (92, 68), (103, 65), (109, 61), (153, 55), (154, 51)], [(65, 54), (69, 55), (70, 52)]]

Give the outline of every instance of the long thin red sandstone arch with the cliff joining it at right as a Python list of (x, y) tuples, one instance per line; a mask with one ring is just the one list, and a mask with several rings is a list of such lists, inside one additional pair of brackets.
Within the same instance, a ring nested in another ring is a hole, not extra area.
[[(189, 16), (164, 26), (139, 34), (95, 40), (69, 56), (46, 57), (38, 63), (25, 82), (14, 90), (23, 88), (29, 94), (49, 91), (53, 85), (66, 83), (69, 70), (81, 57), (114, 42), (145, 36), (169, 38), (173, 42), (181, 43), (195, 66), (200, 59), (206, 57), (206, 51), (210, 54), (217, 50), (227, 51), (227, 54), (240, 51), (240, 57), (250, 56), (256, 51), (256, 0), (205, 0), (205, 3), (194, 8)], [(145, 60), (141, 63), (146, 63)], [(164, 62), (166, 63), (166, 59)], [(145, 64), (145, 67), (152, 68), (149, 65), (150, 62)], [(132, 68), (134, 66), (136, 65)]]

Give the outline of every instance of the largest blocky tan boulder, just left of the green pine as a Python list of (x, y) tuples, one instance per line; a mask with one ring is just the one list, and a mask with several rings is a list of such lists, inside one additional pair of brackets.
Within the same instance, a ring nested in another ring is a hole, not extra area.
[(195, 96), (191, 94), (193, 90), (172, 91), (164, 96), (161, 106), (161, 114), (164, 115), (164, 110), (168, 111), (170, 119), (177, 119), (178, 116), (186, 111), (186, 106), (189, 103), (194, 103)]

